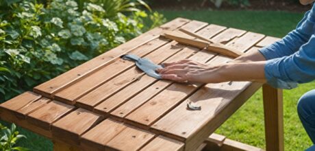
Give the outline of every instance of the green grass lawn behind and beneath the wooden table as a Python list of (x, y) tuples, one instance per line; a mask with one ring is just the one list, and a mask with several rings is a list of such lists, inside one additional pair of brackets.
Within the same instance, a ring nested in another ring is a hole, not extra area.
[[(260, 12), (260, 11), (166, 11), (160, 10), (170, 21), (178, 16), (235, 27), (251, 32), (259, 32), (269, 36), (281, 37), (294, 29), (303, 13), (291, 12)], [(284, 130), (286, 150), (305, 150), (311, 146), (311, 141), (303, 129), (299, 117), (297, 116), (297, 100), (303, 93), (314, 89), (314, 82), (301, 84), (299, 88), (284, 91)], [(3, 121), (1, 121), (3, 123)], [(44, 137), (34, 135), (34, 133), (19, 128), (22, 134), (28, 139), (20, 141), (19, 146), (30, 148), (31, 150), (52, 150), (52, 143)], [(248, 143), (253, 146), (264, 148), (264, 113), (262, 107), (262, 92), (258, 91), (251, 99), (237, 111), (217, 133)]]

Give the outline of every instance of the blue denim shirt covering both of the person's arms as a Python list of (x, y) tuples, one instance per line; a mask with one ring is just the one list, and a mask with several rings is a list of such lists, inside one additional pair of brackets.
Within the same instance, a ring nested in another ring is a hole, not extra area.
[(268, 84), (293, 89), (315, 79), (315, 7), (305, 13), (297, 28), (281, 40), (259, 49), (267, 62)]

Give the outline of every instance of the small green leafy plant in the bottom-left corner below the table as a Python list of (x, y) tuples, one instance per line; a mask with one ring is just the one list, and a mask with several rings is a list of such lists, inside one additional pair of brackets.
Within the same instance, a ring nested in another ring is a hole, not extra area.
[(16, 131), (16, 126), (12, 124), (11, 128), (6, 128), (0, 124), (0, 151), (10, 151), (10, 150), (18, 150), (25, 151), (26, 148), (15, 147), (16, 142), (19, 139), (26, 138), (24, 135), (19, 135), (18, 131)]

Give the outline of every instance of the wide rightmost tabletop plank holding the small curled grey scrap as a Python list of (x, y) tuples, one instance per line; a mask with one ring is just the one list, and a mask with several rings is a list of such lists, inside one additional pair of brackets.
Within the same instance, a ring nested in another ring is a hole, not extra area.
[[(232, 40), (227, 45), (237, 46), (242, 51), (246, 51), (262, 38), (263, 36), (261, 34), (249, 32), (244, 34), (241, 38)], [(220, 62), (230, 60), (223, 56), (218, 56), (216, 59), (220, 59)], [(185, 141), (187, 144), (186, 150), (194, 150), (201, 145), (202, 141), (206, 139), (215, 128), (223, 124), (223, 121), (245, 102), (244, 98), (247, 99), (260, 86), (261, 84), (251, 84), (251, 82), (207, 84), (187, 99), (200, 105), (202, 107), (201, 111), (188, 111), (186, 109), (186, 101), (182, 102), (177, 108), (153, 124), (152, 128), (160, 130), (160, 132), (170, 137), (173, 136), (176, 139)], [(242, 92), (246, 95), (242, 95)], [(232, 100), (236, 99), (235, 97), (241, 97), (242, 100), (232, 102)], [(229, 106), (229, 108), (227, 106)], [(223, 111), (229, 114), (223, 115)], [(201, 126), (207, 127), (208, 129), (203, 129), (201, 132), (201, 129), (199, 129)]]

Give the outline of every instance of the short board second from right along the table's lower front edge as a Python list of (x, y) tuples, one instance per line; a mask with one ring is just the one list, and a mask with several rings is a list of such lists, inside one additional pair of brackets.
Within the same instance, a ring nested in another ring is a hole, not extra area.
[(110, 150), (139, 150), (153, 139), (154, 134), (139, 128), (127, 126), (116, 137), (110, 140), (106, 146)]

